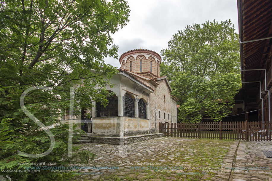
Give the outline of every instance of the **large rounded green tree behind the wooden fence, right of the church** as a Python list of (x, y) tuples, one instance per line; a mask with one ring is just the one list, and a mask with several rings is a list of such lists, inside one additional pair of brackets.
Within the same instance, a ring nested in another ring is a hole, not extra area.
[(238, 34), (230, 20), (187, 26), (162, 55), (161, 74), (179, 99), (179, 120), (201, 121), (201, 110), (214, 121), (227, 116), (241, 87)]

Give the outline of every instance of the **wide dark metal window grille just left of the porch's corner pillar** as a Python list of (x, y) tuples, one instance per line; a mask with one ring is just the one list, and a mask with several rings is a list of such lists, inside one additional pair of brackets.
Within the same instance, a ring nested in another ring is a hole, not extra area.
[(108, 97), (108, 105), (104, 107), (101, 102), (96, 102), (96, 117), (118, 116), (118, 98)]

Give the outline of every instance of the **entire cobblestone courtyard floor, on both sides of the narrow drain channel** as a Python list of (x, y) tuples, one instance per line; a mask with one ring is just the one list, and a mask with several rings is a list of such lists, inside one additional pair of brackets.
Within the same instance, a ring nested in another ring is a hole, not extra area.
[(261, 151), (272, 150), (272, 142), (161, 137), (125, 146), (79, 145), (97, 157), (77, 180), (272, 181), (272, 158)]

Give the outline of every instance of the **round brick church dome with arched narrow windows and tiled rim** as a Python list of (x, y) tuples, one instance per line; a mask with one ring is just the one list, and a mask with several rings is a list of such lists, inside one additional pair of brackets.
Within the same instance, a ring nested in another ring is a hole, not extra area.
[(158, 53), (147, 49), (135, 49), (123, 53), (119, 62), (121, 68), (134, 73), (152, 73), (160, 76), (161, 57)]

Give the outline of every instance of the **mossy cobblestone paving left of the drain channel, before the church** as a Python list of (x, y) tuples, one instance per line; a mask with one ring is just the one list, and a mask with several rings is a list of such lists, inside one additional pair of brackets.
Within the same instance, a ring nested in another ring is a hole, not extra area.
[(97, 157), (73, 180), (229, 180), (238, 141), (161, 137), (125, 146), (78, 145)]

